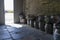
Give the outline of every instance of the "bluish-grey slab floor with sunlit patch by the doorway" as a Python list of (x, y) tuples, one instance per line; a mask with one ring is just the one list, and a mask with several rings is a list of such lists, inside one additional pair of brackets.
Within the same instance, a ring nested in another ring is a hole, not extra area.
[(53, 40), (52, 35), (28, 25), (15, 25), (1, 25), (0, 40)]

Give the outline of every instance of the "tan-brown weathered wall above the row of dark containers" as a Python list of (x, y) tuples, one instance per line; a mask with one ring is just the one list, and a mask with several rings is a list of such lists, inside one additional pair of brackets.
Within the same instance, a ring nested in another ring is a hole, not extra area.
[(24, 10), (27, 15), (58, 15), (60, 0), (25, 0)]

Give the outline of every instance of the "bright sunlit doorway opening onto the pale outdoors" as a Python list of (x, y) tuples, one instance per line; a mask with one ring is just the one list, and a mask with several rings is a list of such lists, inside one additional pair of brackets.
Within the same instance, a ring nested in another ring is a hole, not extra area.
[(4, 0), (5, 24), (14, 23), (14, 0)]

